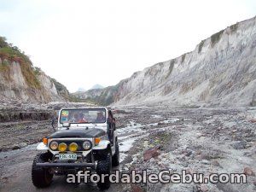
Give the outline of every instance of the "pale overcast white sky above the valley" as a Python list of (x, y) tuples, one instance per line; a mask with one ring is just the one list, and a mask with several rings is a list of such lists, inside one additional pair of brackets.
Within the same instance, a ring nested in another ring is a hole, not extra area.
[(255, 0), (0, 0), (0, 36), (74, 92), (117, 84), (255, 15)]

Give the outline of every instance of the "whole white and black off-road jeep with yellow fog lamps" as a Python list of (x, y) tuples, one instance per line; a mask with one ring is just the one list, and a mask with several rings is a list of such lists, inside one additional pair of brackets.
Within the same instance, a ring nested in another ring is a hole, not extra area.
[[(39, 143), (32, 164), (32, 183), (49, 186), (54, 175), (79, 171), (110, 174), (119, 165), (115, 119), (108, 108), (61, 108), (57, 130)], [(97, 183), (108, 189), (109, 177)]]

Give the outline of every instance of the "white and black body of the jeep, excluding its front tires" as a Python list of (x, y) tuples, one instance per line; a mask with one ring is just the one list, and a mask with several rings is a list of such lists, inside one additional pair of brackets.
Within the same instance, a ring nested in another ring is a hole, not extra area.
[[(88, 119), (91, 117), (89, 112), (93, 114), (104, 113), (104, 115), (102, 115), (101, 121), (85, 121), (84, 114), (88, 115), (86, 117)], [(65, 116), (63, 116), (64, 114)], [(78, 122), (76, 120), (70, 123), (70, 119), (73, 120), (75, 114), (82, 115), (84, 121)], [(65, 119), (65, 122), (63, 119)], [(47, 143), (39, 143), (37, 146), (40, 153), (45, 152), (51, 158), (44, 163), (38, 162), (36, 166), (51, 169), (61, 167), (64, 171), (67, 168), (70, 169), (70, 167), (74, 169), (79, 167), (83, 170), (87, 168), (95, 169), (98, 160), (102, 160), (102, 155), (104, 156), (106, 153), (111, 155), (113, 165), (118, 165), (119, 147), (114, 130), (115, 119), (113, 119), (113, 115), (111, 111), (108, 111), (108, 108), (61, 108), (55, 133), (46, 138)], [(90, 148), (84, 148), (85, 142), (90, 143)], [(58, 147), (53, 149), (51, 143), (56, 143)], [(63, 143), (66, 149), (61, 151), (59, 147)], [(70, 149), (72, 143), (77, 145), (77, 150), (72, 151)], [(66, 159), (66, 157), (70, 157), (70, 159)]]

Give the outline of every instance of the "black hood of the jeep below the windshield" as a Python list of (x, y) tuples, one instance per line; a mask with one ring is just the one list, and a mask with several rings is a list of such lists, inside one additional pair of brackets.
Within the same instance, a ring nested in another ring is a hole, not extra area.
[(106, 132), (102, 129), (91, 128), (91, 129), (69, 129), (60, 130), (51, 134), (48, 138), (91, 138), (91, 137), (101, 137), (105, 135)]

